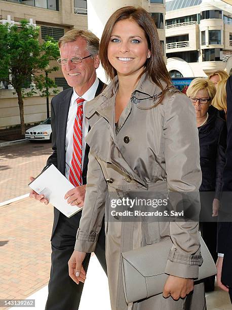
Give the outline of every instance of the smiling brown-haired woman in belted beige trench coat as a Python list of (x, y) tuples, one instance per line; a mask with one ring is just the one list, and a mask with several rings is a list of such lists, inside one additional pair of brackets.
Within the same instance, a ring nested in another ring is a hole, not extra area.
[[(113, 195), (191, 192), (198, 199), (201, 170), (194, 108), (171, 86), (156, 26), (145, 10), (125, 7), (113, 13), (103, 31), (99, 54), (111, 83), (85, 107), (91, 126), (86, 138), (89, 168), (69, 275), (76, 283), (84, 282), (82, 261), (86, 252), (94, 251), (105, 213), (112, 310), (206, 309), (204, 288), (194, 286), (192, 280), (198, 278), (202, 263), (198, 222), (108, 219)], [(173, 247), (163, 295), (128, 305), (120, 253), (167, 238)]]

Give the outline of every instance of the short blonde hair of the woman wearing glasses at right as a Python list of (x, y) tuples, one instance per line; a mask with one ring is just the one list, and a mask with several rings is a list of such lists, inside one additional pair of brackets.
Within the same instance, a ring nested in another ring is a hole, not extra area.
[(207, 90), (210, 99), (213, 100), (216, 94), (216, 88), (213, 82), (211, 82), (210, 80), (206, 80), (204, 78), (197, 78), (197, 79), (192, 80), (190, 85), (188, 86), (186, 95), (188, 97), (195, 97), (197, 92), (202, 89)]

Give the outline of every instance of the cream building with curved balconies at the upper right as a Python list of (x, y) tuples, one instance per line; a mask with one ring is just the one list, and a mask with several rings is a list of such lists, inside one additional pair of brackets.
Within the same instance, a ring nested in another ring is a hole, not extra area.
[(232, 6), (222, 1), (166, 4), (166, 56), (171, 76), (208, 76), (232, 68)]

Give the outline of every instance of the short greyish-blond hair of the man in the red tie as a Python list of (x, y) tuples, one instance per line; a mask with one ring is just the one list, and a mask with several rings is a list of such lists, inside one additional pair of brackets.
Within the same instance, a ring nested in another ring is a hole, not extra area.
[(86, 41), (87, 50), (90, 52), (90, 54), (92, 55), (99, 54), (99, 38), (89, 30), (72, 29), (67, 31), (59, 39), (58, 42), (59, 49), (65, 43), (74, 42), (78, 40), (78, 38), (83, 38)]

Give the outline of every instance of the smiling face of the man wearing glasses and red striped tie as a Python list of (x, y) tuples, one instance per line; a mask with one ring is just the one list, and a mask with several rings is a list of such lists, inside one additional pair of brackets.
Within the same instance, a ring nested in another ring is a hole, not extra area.
[(69, 86), (74, 87), (79, 96), (93, 85), (96, 79), (96, 68), (99, 66), (99, 56), (86, 58), (78, 64), (72, 63), (70, 58), (89, 55), (87, 43), (83, 38), (67, 42), (60, 47), (60, 57), (69, 59), (66, 65), (61, 66), (64, 78)]

